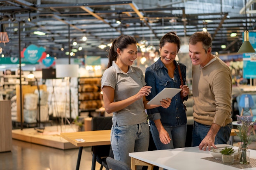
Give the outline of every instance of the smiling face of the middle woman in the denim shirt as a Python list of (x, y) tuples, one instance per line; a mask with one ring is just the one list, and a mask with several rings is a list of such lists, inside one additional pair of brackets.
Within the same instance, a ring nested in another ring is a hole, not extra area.
[(162, 48), (159, 49), (161, 61), (165, 66), (172, 64), (178, 52), (177, 44), (175, 43), (165, 43)]

